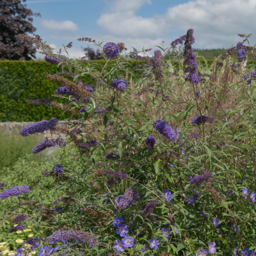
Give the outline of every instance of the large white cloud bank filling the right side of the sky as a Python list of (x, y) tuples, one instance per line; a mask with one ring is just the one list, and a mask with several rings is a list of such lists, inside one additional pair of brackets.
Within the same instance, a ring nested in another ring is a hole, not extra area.
[[(189, 1), (166, 8), (163, 15), (149, 18), (137, 16), (135, 11), (143, 4), (151, 4), (150, 0), (105, 2), (107, 12), (100, 15), (97, 24), (105, 29), (107, 38), (122, 38), (121, 42), (128, 44), (132, 41), (136, 48), (142, 47), (139, 47), (142, 39), (151, 47), (152, 43), (162, 40), (166, 43), (169, 40), (170, 45), (172, 40), (185, 35), (190, 28), (195, 31), (196, 47), (227, 48), (241, 41), (237, 33), (249, 34), (255, 31), (255, 0)], [(179, 31), (179, 34), (172, 35), (173, 31)], [(251, 44), (253, 39), (256, 39), (255, 35), (250, 40)], [(110, 42), (114, 42), (113, 39)]]

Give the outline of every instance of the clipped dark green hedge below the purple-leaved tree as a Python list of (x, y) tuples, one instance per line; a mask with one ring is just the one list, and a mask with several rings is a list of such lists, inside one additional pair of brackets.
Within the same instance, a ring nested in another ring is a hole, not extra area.
[[(131, 71), (132, 67), (145, 61), (129, 61), (131, 66), (127, 66)], [(97, 70), (102, 70), (104, 60), (93, 60), (93, 63), (99, 63)], [(110, 64), (115, 61), (109, 61)], [(108, 66), (107, 71), (111, 69)], [(55, 74), (62, 70), (57, 65), (46, 61), (0, 61), (0, 122), (38, 122), (42, 119), (49, 120), (53, 116), (63, 120), (67, 116), (62, 116), (60, 109), (48, 109), (47, 106), (34, 106), (24, 101), (38, 99), (55, 99), (49, 97), (55, 94), (54, 90), (60, 87), (53, 81), (44, 77), (44, 72)], [(64, 71), (68, 71), (64, 67)], [(72, 70), (74, 72), (74, 69)], [(142, 70), (136, 70), (136, 76), (141, 76)], [(125, 76), (125, 72), (120, 72)], [(61, 75), (70, 81), (73, 78), (67, 75)], [(79, 77), (80, 78), (80, 77)], [(129, 77), (130, 78), (130, 75)], [(91, 76), (81, 78), (83, 83), (95, 85), (95, 80)], [(58, 98), (58, 102), (68, 103), (67, 100)]]

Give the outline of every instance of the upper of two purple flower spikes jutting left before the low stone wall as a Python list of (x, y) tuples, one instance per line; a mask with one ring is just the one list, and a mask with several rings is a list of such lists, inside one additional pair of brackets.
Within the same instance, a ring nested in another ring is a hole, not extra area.
[(44, 132), (47, 130), (55, 131), (56, 125), (58, 124), (58, 119), (52, 117), (49, 121), (42, 120), (40, 122), (35, 122), (34, 124), (29, 124), (20, 130), (20, 135), (23, 137), (29, 134), (35, 134), (36, 132)]

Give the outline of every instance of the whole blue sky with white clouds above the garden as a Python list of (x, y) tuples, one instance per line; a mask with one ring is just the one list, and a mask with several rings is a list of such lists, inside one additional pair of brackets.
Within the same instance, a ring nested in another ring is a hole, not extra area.
[[(26, 4), (41, 17), (33, 17), (35, 33), (56, 48), (73, 42), (70, 58), (84, 56), (83, 47), (100, 47), (77, 38), (102, 42), (123, 42), (128, 52), (135, 47), (154, 54), (162, 41), (170, 43), (193, 28), (194, 48), (228, 48), (241, 41), (238, 33), (252, 33), (256, 43), (255, 0), (27, 0)], [(31, 35), (31, 34), (28, 34)], [(31, 35), (32, 36), (32, 35)], [(144, 54), (140, 54), (143, 56)], [(43, 58), (36, 53), (36, 58)]]

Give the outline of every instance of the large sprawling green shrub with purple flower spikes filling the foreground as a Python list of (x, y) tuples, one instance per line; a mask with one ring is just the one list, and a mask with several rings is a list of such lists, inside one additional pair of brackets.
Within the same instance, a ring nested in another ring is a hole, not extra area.
[[(70, 114), (66, 122), (72, 130), (59, 127), (58, 120), (43, 120), (21, 134), (33, 129), (65, 134), (66, 141), (42, 141), (32, 152), (72, 144), (74, 168), (56, 163), (52, 170), (37, 170), (52, 180), (54, 201), (22, 206), (44, 195), (43, 182), (33, 190), (27, 184), (2, 188), (2, 200), (19, 196), (15, 207), (29, 214), (22, 220), (15, 211), (10, 218), (21, 220), (19, 225), (30, 221), (44, 232), (43, 238), (24, 243), (38, 248), (38, 255), (254, 255), (255, 77), (245, 68), (253, 47), (248, 36), (240, 36), (243, 42), (221, 56), (211, 74), (203, 74), (191, 47), (193, 29), (188, 29), (170, 48), (154, 52), (141, 68), (150, 76), (141, 72), (136, 83), (120, 77), (129, 60), (118, 56), (121, 43), (104, 45), (104, 68), (110, 59), (115, 65), (110, 72), (97, 72), (88, 62), (59, 58), (49, 45), (34, 40), (52, 65), (67, 65), (74, 76), (70, 82), (45, 73), (60, 84), (60, 97), (74, 95), (67, 104), (49, 102)], [(182, 51), (175, 49), (183, 43)], [(169, 49), (175, 58), (163, 60)], [(239, 65), (231, 58), (236, 51)], [(186, 67), (171, 76), (175, 61)], [(95, 79), (94, 90), (79, 83), (84, 74)], [(78, 159), (85, 163), (76, 165)]]

